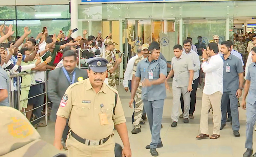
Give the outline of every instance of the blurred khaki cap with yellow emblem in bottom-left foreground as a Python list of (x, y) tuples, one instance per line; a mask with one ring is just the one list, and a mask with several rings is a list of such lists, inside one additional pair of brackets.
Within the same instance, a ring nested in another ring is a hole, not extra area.
[(66, 157), (43, 141), (37, 130), (18, 110), (0, 106), (1, 157)]

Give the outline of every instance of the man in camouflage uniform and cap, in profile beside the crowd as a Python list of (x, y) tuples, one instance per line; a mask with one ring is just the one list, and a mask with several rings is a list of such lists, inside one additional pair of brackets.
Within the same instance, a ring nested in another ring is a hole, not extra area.
[(122, 62), (122, 56), (118, 59), (115, 59), (115, 53), (114, 48), (115, 45), (118, 45), (115, 43), (112, 39), (107, 39), (105, 41), (105, 47), (106, 47), (106, 52), (105, 52), (105, 58), (107, 59), (107, 69), (108, 69), (108, 85), (116, 89), (116, 84), (115, 84), (115, 74), (116, 74), (116, 69), (118, 68), (119, 64)]

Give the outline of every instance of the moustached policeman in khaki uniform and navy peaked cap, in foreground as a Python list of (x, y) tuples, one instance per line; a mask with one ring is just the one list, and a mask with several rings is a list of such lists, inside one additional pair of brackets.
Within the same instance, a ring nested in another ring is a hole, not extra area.
[(118, 91), (103, 83), (107, 60), (88, 59), (89, 79), (70, 85), (60, 103), (55, 125), (55, 142), (61, 150), (61, 137), (69, 118), (66, 141), (69, 157), (114, 157), (113, 129), (123, 141), (123, 155), (131, 157), (126, 120)]

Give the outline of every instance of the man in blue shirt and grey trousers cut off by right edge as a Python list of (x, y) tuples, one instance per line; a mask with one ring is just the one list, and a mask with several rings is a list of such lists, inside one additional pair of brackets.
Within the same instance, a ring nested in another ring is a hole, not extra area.
[[(252, 62), (253, 63), (248, 67), (248, 74), (246, 76), (244, 95), (241, 104), (243, 109), (246, 109), (245, 148), (247, 148), (247, 150), (243, 154), (243, 157), (250, 157), (253, 151), (253, 126), (256, 121), (256, 47), (252, 49)], [(253, 157), (256, 157), (256, 153)]]

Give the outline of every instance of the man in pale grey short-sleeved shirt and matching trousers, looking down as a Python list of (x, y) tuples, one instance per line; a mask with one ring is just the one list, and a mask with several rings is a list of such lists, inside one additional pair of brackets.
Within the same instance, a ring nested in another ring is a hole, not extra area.
[(175, 57), (172, 58), (172, 68), (166, 78), (166, 88), (170, 91), (170, 87), (167, 83), (168, 79), (173, 76), (172, 90), (173, 90), (173, 106), (172, 106), (172, 127), (177, 126), (180, 96), (183, 95), (184, 100), (184, 123), (189, 123), (189, 109), (190, 109), (190, 92), (192, 91), (193, 82), (193, 62), (192, 60), (182, 52), (182, 46), (175, 45), (173, 47)]

